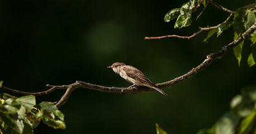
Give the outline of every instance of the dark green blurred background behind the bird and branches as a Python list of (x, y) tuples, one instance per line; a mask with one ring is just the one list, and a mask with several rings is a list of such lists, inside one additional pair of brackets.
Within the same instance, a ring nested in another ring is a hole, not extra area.
[[(24, 92), (48, 90), (46, 84), (76, 80), (107, 87), (129, 87), (107, 66), (122, 62), (140, 69), (151, 82), (163, 83), (187, 73), (210, 53), (233, 41), (230, 27), (218, 38), (203, 42), (208, 32), (190, 40), (145, 36), (190, 36), (198, 27), (216, 26), (229, 13), (211, 3), (192, 14), (192, 26), (174, 29), (165, 13), (188, 1), (0, 1), (0, 80), (3, 86)], [(235, 11), (255, 1), (215, 2)], [(167, 133), (196, 133), (210, 128), (229, 110), (231, 98), (255, 84), (255, 66), (245, 41), (239, 68), (233, 51), (215, 60), (197, 75), (157, 91), (140, 94), (105, 93), (78, 88), (60, 108), (65, 130), (41, 123), (35, 133), (156, 133), (158, 123)], [(1, 93), (10, 93), (1, 89)], [(56, 102), (65, 90), (36, 96), (37, 103)], [(20, 94), (10, 93), (20, 97)]]

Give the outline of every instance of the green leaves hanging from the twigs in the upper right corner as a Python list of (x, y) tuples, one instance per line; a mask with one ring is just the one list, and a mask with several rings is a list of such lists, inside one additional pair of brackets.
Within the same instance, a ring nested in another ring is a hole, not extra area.
[[(190, 26), (192, 23), (191, 16), (192, 12), (196, 11), (196, 8), (200, 6), (200, 4), (204, 4), (205, 6), (206, 0), (203, 1), (189, 1), (187, 3), (184, 3), (181, 8), (174, 8), (167, 12), (167, 14), (164, 17), (165, 22), (169, 22), (170, 20), (173, 20), (177, 18), (177, 21), (174, 25), (174, 28), (182, 28), (186, 26)], [(256, 21), (256, 17), (252, 11), (245, 7), (241, 7), (236, 9), (234, 14), (233, 21), (227, 21), (224, 23), (221, 23), (217, 27), (209, 27), (209, 32), (207, 37), (203, 40), (204, 42), (207, 42), (207, 39), (209, 39), (214, 33), (217, 33), (217, 37), (227, 28), (230, 26), (233, 26), (234, 28), (234, 40), (238, 39), (238, 37), (244, 33), (250, 26), (254, 24)], [(256, 32), (252, 33), (250, 37), (248, 38), (252, 44), (252, 53), (248, 54), (247, 63), (251, 67), (255, 65), (256, 61)], [(243, 50), (243, 44), (244, 41), (242, 41), (238, 46), (234, 47), (234, 54), (235, 58), (238, 60), (238, 65), (240, 66), (241, 61), (241, 53)]]

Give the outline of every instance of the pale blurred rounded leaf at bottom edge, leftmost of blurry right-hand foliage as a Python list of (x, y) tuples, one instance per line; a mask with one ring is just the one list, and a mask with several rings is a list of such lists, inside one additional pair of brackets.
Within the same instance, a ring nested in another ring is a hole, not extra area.
[(236, 126), (240, 117), (233, 112), (227, 112), (215, 124), (215, 133), (218, 134), (235, 134)]

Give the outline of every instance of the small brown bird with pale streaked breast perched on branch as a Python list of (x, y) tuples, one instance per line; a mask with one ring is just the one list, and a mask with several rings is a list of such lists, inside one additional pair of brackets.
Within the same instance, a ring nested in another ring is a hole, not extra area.
[(128, 88), (131, 88), (135, 85), (142, 85), (149, 88), (153, 88), (165, 96), (167, 95), (163, 92), (163, 90), (159, 89), (157, 85), (153, 84), (143, 73), (141, 73), (139, 69), (131, 65), (125, 65), (124, 63), (113, 63), (111, 66), (108, 66), (107, 68), (113, 69), (113, 71), (115, 71), (116, 74), (119, 74), (128, 82), (133, 83), (133, 85), (131, 85)]

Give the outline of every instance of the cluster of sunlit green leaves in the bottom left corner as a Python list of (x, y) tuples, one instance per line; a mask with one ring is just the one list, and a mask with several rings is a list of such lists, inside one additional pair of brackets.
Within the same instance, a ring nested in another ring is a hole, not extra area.
[(1, 133), (33, 133), (41, 120), (54, 128), (65, 128), (64, 115), (54, 104), (36, 104), (35, 96), (20, 98), (0, 93)]

